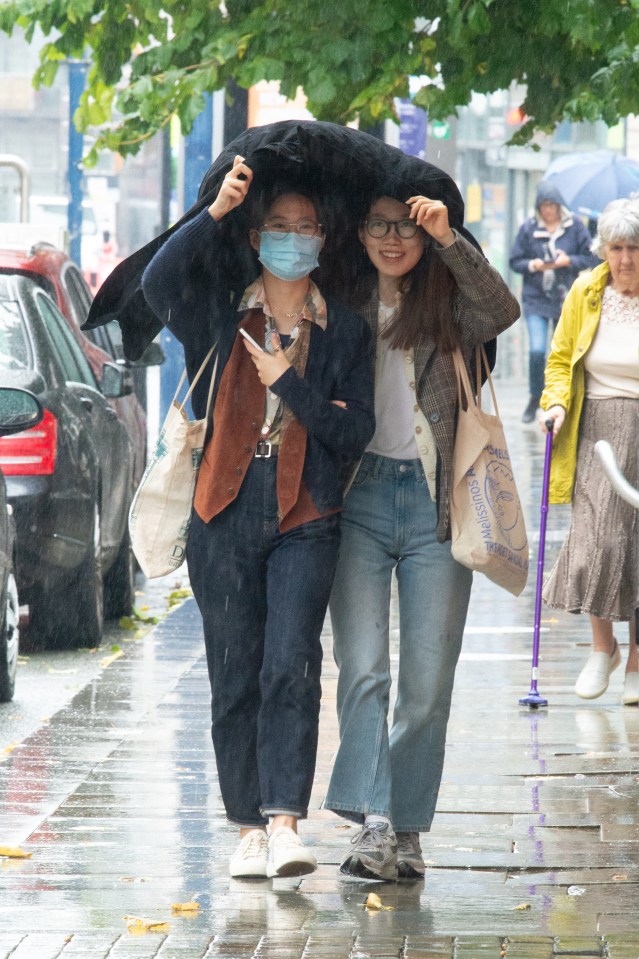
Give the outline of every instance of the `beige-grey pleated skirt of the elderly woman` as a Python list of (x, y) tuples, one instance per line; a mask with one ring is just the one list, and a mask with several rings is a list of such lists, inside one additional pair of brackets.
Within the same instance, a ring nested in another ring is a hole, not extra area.
[(594, 451), (607, 440), (636, 487), (638, 417), (639, 400), (584, 401), (570, 529), (542, 594), (551, 608), (628, 621), (639, 606), (637, 511), (615, 493)]

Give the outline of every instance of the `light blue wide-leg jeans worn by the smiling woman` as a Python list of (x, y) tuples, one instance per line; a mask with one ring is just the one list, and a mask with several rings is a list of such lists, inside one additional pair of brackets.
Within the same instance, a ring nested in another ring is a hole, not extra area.
[[(389, 816), (401, 832), (427, 832), (433, 819), (472, 584), (436, 526), (420, 461), (367, 453), (346, 497), (330, 600), (340, 747), (325, 806), (355, 822)], [(389, 732), (393, 570), (400, 638)]]

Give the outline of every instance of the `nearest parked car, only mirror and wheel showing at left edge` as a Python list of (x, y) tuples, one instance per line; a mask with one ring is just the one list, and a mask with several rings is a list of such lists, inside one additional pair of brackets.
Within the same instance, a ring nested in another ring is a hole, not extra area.
[[(37, 426), (43, 416), (37, 398), (26, 390), (0, 387), (0, 436)], [(20, 606), (15, 577), (15, 523), (0, 471), (0, 703), (13, 699), (20, 643)]]

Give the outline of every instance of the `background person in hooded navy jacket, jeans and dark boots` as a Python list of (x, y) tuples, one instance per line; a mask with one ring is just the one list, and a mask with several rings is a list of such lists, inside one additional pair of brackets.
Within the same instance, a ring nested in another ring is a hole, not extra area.
[(530, 398), (522, 421), (532, 423), (544, 389), (548, 327), (554, 331), (566, 293), (582, 270), (596, 266), (592, 239), (582, 221), (564, 204), (559, 190), (543, 180), (535, 214), (519, 229), (510, 268), (523, 276), (522, 308), (528, 329)]

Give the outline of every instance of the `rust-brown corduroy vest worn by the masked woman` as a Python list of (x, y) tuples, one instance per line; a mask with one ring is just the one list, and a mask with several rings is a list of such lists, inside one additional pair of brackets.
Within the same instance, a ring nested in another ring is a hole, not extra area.
[[(241, 324), (258, 343), (264, 342), (264, 314), (249, 310)], [(194, 508), (205, 523), (237, 497), (255, 455), (264, 422), (264, 386), (241, 337), (224, 368), (213, 410), (213, 436), (202, 457)], [(282, 428), (277, 459), (277, 503), (281, 532), (319, 519), (302, 482), (306, 427), (295, 417)], [(337, 510), (331, 510), (331, 513)]]

